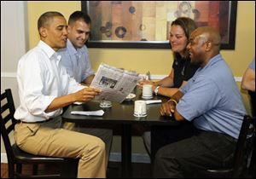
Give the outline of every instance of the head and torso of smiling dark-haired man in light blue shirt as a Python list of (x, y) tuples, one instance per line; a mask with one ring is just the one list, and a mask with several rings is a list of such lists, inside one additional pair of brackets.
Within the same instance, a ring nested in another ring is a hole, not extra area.
[(67, 27), (67, 48), (60, 49), (61, 65), (79, 83), (90, 85), (94, 72), (90, 66), (88, 49), (84, 45), (90, 37), (90, 17), (81, 11), (70, 15)]

